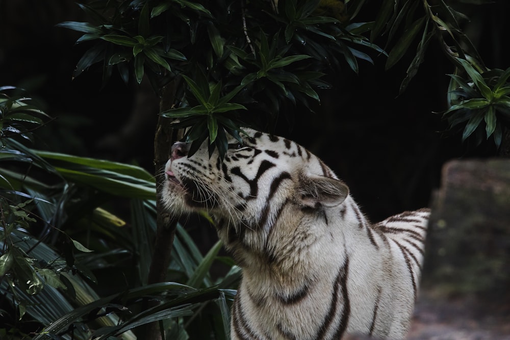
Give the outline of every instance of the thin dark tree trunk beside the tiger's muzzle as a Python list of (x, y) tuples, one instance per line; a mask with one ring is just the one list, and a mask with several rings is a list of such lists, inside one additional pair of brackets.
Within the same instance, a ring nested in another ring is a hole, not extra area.
[[(174, 80), (162, 89), (162, 97), (160, 101), (160, 112), (169, 110), (172, 107), (175, 97), (175, 91), (179, 86), (179, 80)], [(177, 218), (171, 216), (162, 206), (159, 199), (161, 190), (164, 185), (163, 169), (171, 154), (172, 143), (182, 138), (182, 131), (174, 131), (170, 127), (170, 118), (163, 116), (158, 117), (156, 126), (156, 136), (154, 139), (154, 165), (156, 172), (156, 212), (157, 212), (157, 231), (154, 245), (154, 254), (152, 254), (152, 263), (147, 278), (147, 283), (158, 283), (166, 281), (166, 274), (170, 264), (173, 238)], [(143, 309), (149, 308), (151, 305), (146, 302), (142, 306)], [(140, 332), (137, 337), (140, 339), (161, 339), (159, 324), (157, 322), (139, 327)]]

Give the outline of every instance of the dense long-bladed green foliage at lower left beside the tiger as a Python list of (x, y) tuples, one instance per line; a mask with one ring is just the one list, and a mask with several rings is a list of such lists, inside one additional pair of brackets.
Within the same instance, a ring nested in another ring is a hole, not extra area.
[[(240, 271), (218, 256), (219, 242), (202, 255), (179, 226), (168, 268), (175, 282), (147, 285), (156, 236), (151, 174), (36, 150), (17, 136), (5, 134), (0, 149), (0, 310), (8, 316), (0, 334), (22, 336), (35, 322), (38, 339), (134, 339), (132, 329), (161, 321), (166, 338), (227, 338)], [(232, 269), (213, 278), (218, 259)], [(198, 325), (204, 320), (208, 327)]]

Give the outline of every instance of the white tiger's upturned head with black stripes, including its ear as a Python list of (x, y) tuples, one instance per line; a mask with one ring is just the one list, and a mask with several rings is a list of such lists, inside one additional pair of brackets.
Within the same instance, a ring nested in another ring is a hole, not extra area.
[(191, 156), (188, 144), (172, 146), (162, 191), (168, 210), (206, 211), (227, 247), (233, 239), (260, 247), (282, 215), (288, 215), (286, 224), (293, 216), (313, 218), (347, 197), (347, 186), (307, 149), (256, 130), (244, 132), (242, 143), (228, 141), (223, 160), (217, 150), (209, 156), (207, 142)]

